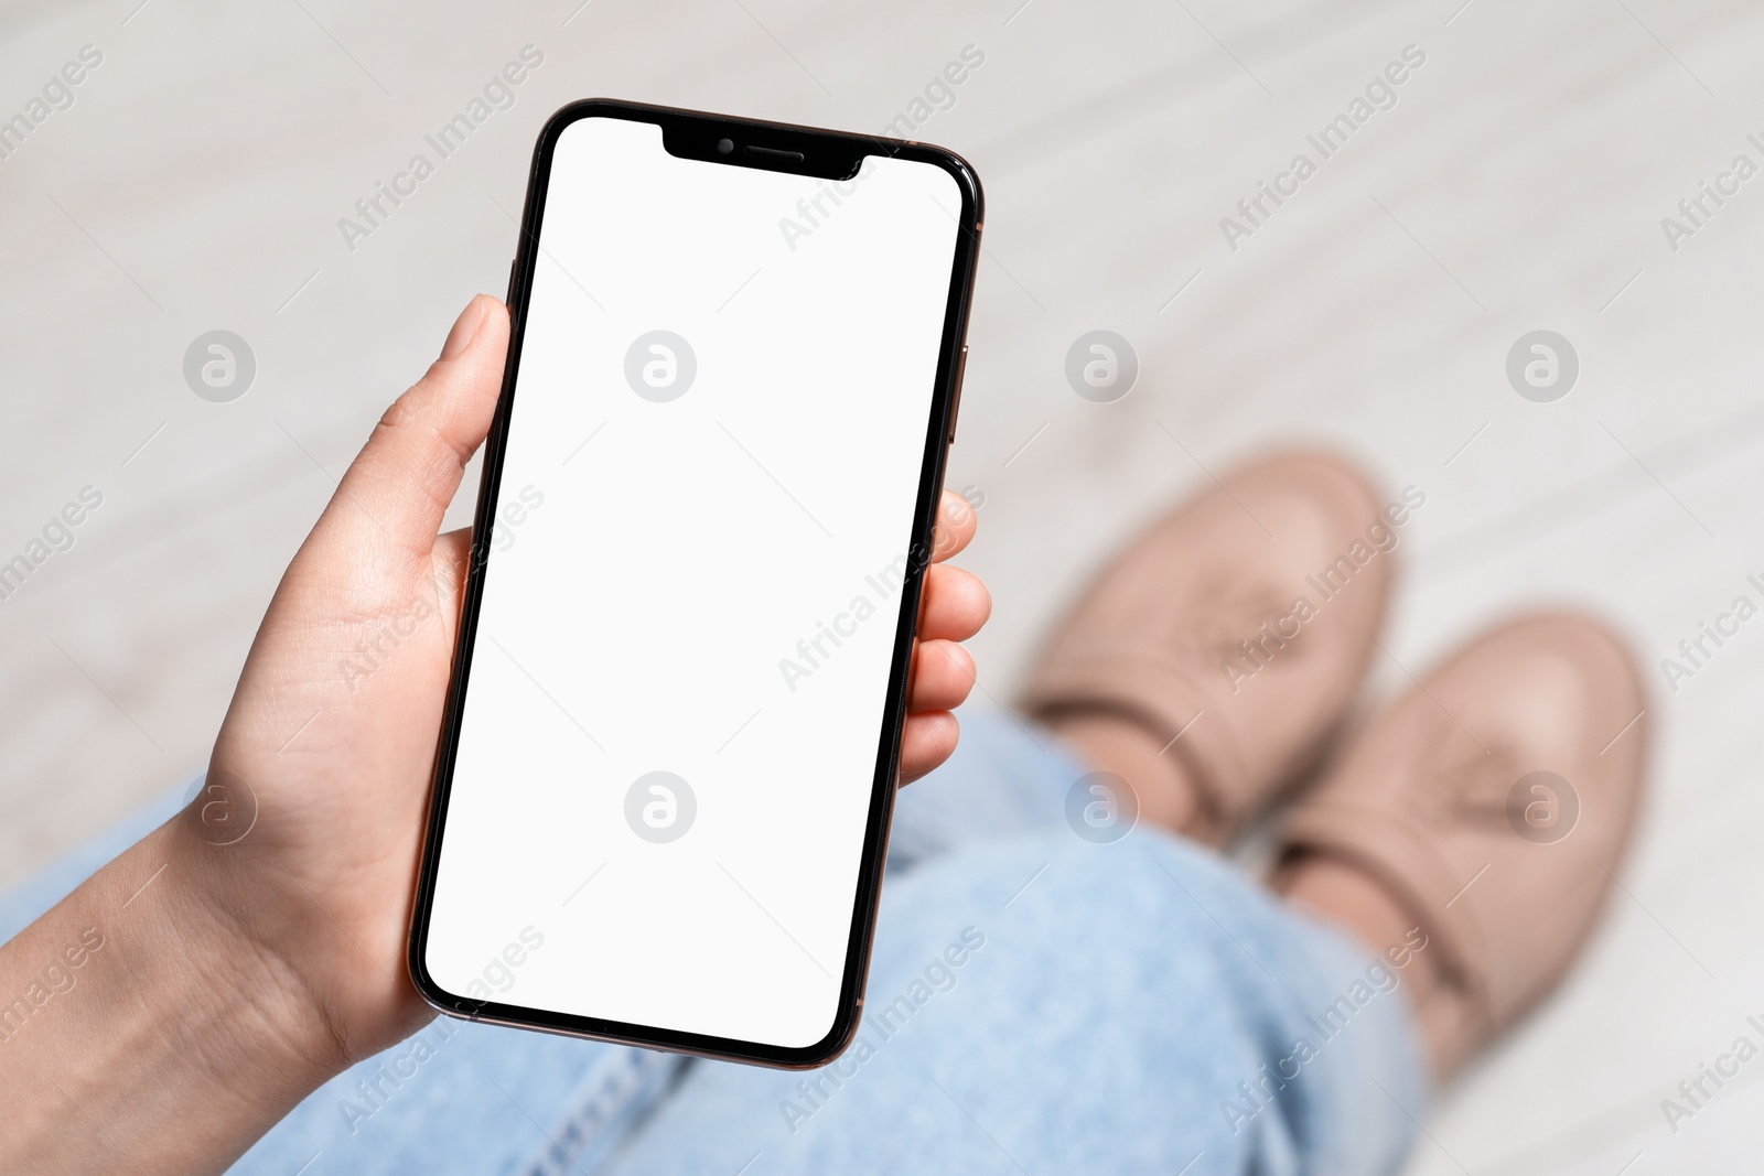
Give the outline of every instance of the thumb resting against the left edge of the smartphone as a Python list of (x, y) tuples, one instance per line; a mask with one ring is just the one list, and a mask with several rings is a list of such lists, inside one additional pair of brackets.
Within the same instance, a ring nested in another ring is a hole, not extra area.
[(506, 354), (508, 312), (478, 294), (453, 323), (441, 358), (379, 418), (321, 529), (429, 555), (466, 462), (490, 430)]

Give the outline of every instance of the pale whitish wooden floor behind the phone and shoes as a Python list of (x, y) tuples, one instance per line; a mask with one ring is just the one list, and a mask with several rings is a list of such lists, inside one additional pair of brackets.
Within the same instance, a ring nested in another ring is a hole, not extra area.
[[(880, 130), (968, 44), (984, 63), (919, 136), (988, 190), (951, 471), (986, 494), (988, 695), (1120, 536), (1277, 441), (1427, 492), (1401, 666), (1563, 601), (1658, 663), (1764, 573), (1764, 178), (1676, 252), (1660, 227), (1738, 153), (1764, 164), (1764, 11), (1461, 2), (0, 9), (0, 118), (81, 46), (104, 55), (0, 160), (0, 561), (81, 487), (104, 495), (0, 605), (0, 882), (203, 763), (332, 478), (467, 294), (501, 293), (503, 210), (550, 109)], [(515, 106), (349, 252), (337, 220), (526, 44), (545, 60)], [(1231, 250), (1221, 217), (1411, 44), (1397, 106)], [(235, 404), (182, 381), (212, 328), (258, 356)], [(1143, 363), (1117, 404), (1062, 377), (1092, 328)], [(1581, 356), (1556, 404), (1505, 377), (1536, 328)], [(1764, 1063), (1676, 1135), (1660, 1100), (1764, 1012), (1760, 665), (1764, 624), (1676, 695), (1655, 679), (1655, 786), (1611, 917), (1448, 1093), (1413, 1172), (1753, 1167)], [(1385, 665), (1374, 693), (1402, 681)]]

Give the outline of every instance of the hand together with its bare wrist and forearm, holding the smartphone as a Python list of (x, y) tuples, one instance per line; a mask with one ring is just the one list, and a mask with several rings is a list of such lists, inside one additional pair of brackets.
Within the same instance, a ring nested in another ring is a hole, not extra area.
[[(309, 1090), (432, 1016), (404, 945), (471, 557), (467, 532), (437, 532), (489, 432), (506, 351), (508, 314), (480, 294), (282, 577), (203, 793), (0, 949), (0, 984), (18, 987), (86, 926), (106, 943), (88, 954), (78, 1016), (26, 1026), (32, 1044), (7, 1060), (25, 1065), (0, 1067), (0, 1095), (28, 1090), (42, 1127), (14, 1135), (11, 1155), (0, 1144), (0, 1167), (28, 1167), (37, 1146), (67, 1160), (62, 1132), (78, 1132), (92, 1164), (69, 1167), (217, 1171)], [(972, 534), (974, 511), (946, 494), (933, 559)], [(954, 751), (949, 711), (974, 684), (956, 642), (988, 612), (975, 577), (928, 569), (903, 781)], [(56, 1076), (55, 1090), (41, 1081)]]

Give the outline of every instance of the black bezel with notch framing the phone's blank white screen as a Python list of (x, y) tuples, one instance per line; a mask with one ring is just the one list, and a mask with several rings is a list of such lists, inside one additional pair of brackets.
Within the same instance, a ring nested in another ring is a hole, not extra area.
[[(429, 943), (429, 917), (434, 910), (434, 887), (439, 867), (443, 830), (446, 827), (448, 793), (459, 753), (460, 716), (471, 679), (473, 645), (478, 631), (478, 608), (483, 599), (483, 582), (489, 575), (490, 541), (496, 525), (496, 508), (501, 490), (503, 457), (513, 413), (515, 383), (520, 372), (520, 347), (526, 328), (527, 300), (533, 293), (533, 263), (538, 252), (540, 227), (545, 217), (545, 199), (550, 183), (552, 153), (566, 127), (582, 118), (624, 118), (662, 127), (663, 143), (674, 155), (702, 159), (725, 166), (792, 171), (824, 178), (854, 175), (864, 155), (891, 155), (933, 164), (947, 171), (961, 192), (954, 256), (951, 259), (949, 294), (944, 309), (944, 331), (937, 358), (937, 381), (931, 409), (926, 420), (924, 457), (919, 473), (919, 490), (914, 506), (912, 545), (908, 548), (907, 577), (901, 589), (896, 619), (894, 652), (889, 666), (886, 707), (877, 744), (877, 770), (871, 781), (870, 813), (864, 829), (863, 857), (857, 873), (857, 892), (852, 904), (852, 927), (845, 954), (845, 971), (840, 977), (840, 1003), (827, 1035), (804, 1047), (780, 1047), (764, 1042), (743, 1042), (702, 1033), (684, 1033), (658, 1026), (582, 1017), (554, 1009), (506, 1005), (448, 993), (429, 973), (425, 954)], [(736, 150), (723, 155), (716, 141), (729, 138)], [(748, 153), (748, 145), (760, 152)], [(709, 153), (706, 153), (709, 152)], [(799, 159), (792, 159), (797, 155)], [(856, 162), (848, 162), (856, 160)], [(907, 718), (907, 674), (912, 658), (912, 640), (917, 628), (919, 594), (930, 564), (937, 525), (937, 506), (942, 495), (944, 462), (954, 439), (956, 411), (960, 407), (961, 356), (965, 353), (968, 310), (974, 296), (974, 275), (979, 261), (979, 234), (984, 196), (974, 169), (954, 152), (838, 130), (796, 127), (789, 123), (709, 115), (702, 111), (646, 106), (616, 99), (586, 99), (554, 113), (540, 130), (533, 152), (527, 196), (520, 219), (520, 240), (510, 270), (508, 286), (508, 361), (503, 370), (503, 388), (496, 416), (485, 441), (483, 474), (478, 487), (478, 506), (473, 517), (471, 561), (467, 566), (464, 607), (453, 649), (453, 668), (441, 721), (436, 772), (429, 799), (423, 855), (416, 876), (416, 894), (411, 910), (409, 970), (416, 991), (437, 1010), (467, 1021), (508, 1024), (517, 1028), (584, 1037), (593, 1040), (665, 1049), (704, 1058), (721, 1058), (781, 1068), (810, 1068), (836, 1058), (856, 1037), (863, 1017), (864, 984), (870, 971), (870, 949), (875, 938), (877, 904), (882, 889), (882, 867), (887, 857), (887, 832), (894, 811), (894, 792), (900, 760), (900, 735)]]

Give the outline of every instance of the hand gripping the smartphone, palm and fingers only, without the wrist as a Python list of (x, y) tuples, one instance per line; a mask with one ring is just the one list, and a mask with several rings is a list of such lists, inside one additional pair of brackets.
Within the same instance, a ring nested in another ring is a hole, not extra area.
[[(289, 961), (349, 1060), (432, 1016), (409, 984), (404, 943), (471, 555), (469, 532), (437, 531), (489, 432), (506, 351), (508, 314), (480, 294), (295, 555), (215, 744), (212, 772), (245, 781), (259, 806), (256, 829), (224, 853), (249, 860), (256, 882), (224, 878), (220, 901), (236, 908), (242, 934)], [(940, 524), (938, 561), (974, 536), (974, 511), (946, 494)], [(956, 642), (990, 610), (974, 575), (928, 571), (903, 779), (954, 751), (949, 711), (974, 684)]]

